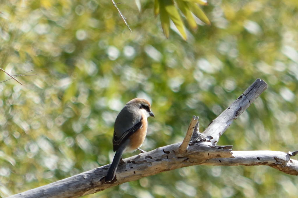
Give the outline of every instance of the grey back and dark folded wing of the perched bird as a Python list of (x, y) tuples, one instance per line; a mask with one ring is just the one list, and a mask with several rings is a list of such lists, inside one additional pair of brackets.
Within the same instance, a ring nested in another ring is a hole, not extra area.
[(142, 127), (141, 114), (133, 113), (133, 108), (125, 106), (118, 114), (114, 125), (113, 150), (117, 151), (119, 146), (124, 143), (128, 137)]

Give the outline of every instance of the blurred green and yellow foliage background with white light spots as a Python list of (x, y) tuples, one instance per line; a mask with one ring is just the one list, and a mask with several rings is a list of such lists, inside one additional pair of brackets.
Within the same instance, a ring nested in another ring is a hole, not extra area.
[[(121, 2), (132, 33), (111, 1), (0, 1), (1, 68), (38, 74), (0, 83), (1, 197), (110, 163), (114, 119), (135, 97), (156, 115), (149, 151), (182, 141), (193, 115), (202, 132), (261, 78), (268, 89), (218, 145), (297, 149), (297, 0), (210, 0), (211, 25), (185, 23), (187, 41), (173, 24), (165, 38), (152, 0)], [(266, 166), (193, 166), (85, 197), (297, 197), (297, 183)]]

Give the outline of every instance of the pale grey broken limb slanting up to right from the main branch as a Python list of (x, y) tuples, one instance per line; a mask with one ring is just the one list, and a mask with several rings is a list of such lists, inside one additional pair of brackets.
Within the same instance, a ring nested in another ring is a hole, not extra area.
[(258, 78), (223, 113), (215, 118), (202, 134), (205, 137), (211, 136), (212, 145), (216, 145), (219, 137), (229, 128), (233, 120), (237, 119), (266, 89), (267, 84)]

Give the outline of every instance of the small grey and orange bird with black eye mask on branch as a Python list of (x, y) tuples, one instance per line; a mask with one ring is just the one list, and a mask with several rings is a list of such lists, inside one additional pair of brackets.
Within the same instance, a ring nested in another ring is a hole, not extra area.
[(145, 153), (139, 147), (145, 140), (148, 128), (147, 118), (150, 116), (155, 118), (150, 103), (142, 98), (135, 98), (126, 103), (117, 115), (113, 135), (113, 150), (116, 153), (105, 177), (106, 182), (114, 179), (125, 151), (131, 152), (138, 149)]

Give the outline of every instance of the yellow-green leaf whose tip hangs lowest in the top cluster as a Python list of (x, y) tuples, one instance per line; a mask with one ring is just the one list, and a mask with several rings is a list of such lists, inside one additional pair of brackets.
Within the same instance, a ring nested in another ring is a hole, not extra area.
[(174, 2), (172, 0), (159, 0), (159, 5), (160, 7), (162, 7), (162, 5), (164, 5), (165, 10), (167, 11), (167, 13), (170, 16), (170, 19), (173, 21), (173, 23), (175, 24), (176, 28), (178, 29), (178, 31), (180, 32), (182, 38), (184, 40), (187, 39), (186, 36), (186, 32), (184, 29), (184, 24), (183, 21), (179, 15), (178, 10), (176, 9)]

